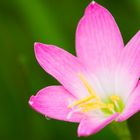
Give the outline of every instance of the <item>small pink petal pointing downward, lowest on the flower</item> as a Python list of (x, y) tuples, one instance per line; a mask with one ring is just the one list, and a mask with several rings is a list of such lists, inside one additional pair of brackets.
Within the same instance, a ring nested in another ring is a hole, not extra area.
[(95, 134), (101, 129), (103, 129), (106, 125), (111, 123), (116, 117), (118, 113), (108, 117), (108, 118), (85, 118), (82, 119), (80, 125), (78, 127), (78, 136), (89, 136), (91, 134)]

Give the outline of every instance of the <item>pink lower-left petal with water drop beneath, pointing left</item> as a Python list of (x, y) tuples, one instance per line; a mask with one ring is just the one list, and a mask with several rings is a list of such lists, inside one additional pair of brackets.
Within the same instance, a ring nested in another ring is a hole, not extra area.
[(68, 114), (69, 100), (75, 98), (62, 86), (50, 86), (40, 90), (36, 96), (31, 96), (30, 106), (41, 114), (58, 120), (79, 122), (83, 117), (80, 113), (73, 113), (70, 118)]

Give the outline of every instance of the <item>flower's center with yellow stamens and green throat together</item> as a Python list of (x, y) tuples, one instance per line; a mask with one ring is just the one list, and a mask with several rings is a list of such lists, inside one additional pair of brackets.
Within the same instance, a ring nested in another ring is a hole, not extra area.
[(101, 110), (105, 114), (114, 114), (115, 112), (122, 112), (124, 103), (118, 95), (112, 95), (106, 100), (102, 101), (94, 92), (92, 86), (87, 82), (82, 74), (78, 74), (83, 85), (87, 89), (89, 96), (79, 99), (71, 103), (68, 108), (76, 107), (81, 112), (90, 112), (93, 110)]

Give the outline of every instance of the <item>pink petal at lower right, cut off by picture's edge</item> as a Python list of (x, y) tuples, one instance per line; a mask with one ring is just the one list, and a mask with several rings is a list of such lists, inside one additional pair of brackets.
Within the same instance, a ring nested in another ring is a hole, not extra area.
[(140, 82), (135, 88), (134, 92), (128, 98), (126, 107), (122, 114), (118, 117), (117, 121), (122, 122), (127, 120), (129, 117), (140, 111)]

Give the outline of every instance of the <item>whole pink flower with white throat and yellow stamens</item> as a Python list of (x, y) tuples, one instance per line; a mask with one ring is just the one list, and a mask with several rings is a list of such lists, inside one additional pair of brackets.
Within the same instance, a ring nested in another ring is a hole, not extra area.
[(140, 110), (140, 32), (124, 47), (112, 15), (92, 2), (77, 27), (76, 54), (35, 43), (37, 61), (61, 85), (32, 96), (33, 109), (78, 122), (79, 136), (94, 134)]

